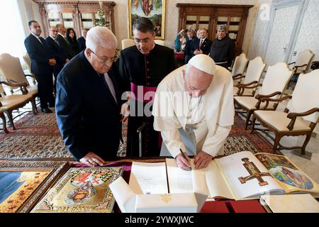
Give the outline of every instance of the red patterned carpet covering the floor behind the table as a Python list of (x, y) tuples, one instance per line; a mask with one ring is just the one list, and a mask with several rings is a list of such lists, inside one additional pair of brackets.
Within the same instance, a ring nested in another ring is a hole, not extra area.
[[(272, 145), (259, 133), (245, 131), (244, 121), (235, 116), (235, 125), (227, 138), (225, 154), (230, 155), (241, 150), (252, 153), (272, 151)], [(44, 158), (72, 157), (63, 144), (55, 114), (27, 114), (16, 122), (16, 131), (9, 127), (9, 134), (0, 131), (0, 158)], [(123, 127), (126, 135), (127, 127)], [(124, 142), (126, 137), (123, 136)], [(125, 156), (125, 143), (119, 148), (118, 156)]]

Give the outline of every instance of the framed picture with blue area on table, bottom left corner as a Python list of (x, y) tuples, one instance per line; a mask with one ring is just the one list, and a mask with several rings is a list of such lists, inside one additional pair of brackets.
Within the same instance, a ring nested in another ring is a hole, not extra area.
[(27, 212), (66, 162), (0, 161), (0, 213)]

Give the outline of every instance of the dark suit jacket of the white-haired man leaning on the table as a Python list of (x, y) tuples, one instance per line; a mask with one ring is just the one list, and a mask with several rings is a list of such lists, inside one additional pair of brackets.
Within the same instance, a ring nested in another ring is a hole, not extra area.
[(57, 77), (55, 112), (63, 141), (75, 159), (89, 151), (104, 160), (116, 157), (121, 138), (121, 92), (115, 67), (108, 71), (117, 104), (105, 80), (80, 52)]

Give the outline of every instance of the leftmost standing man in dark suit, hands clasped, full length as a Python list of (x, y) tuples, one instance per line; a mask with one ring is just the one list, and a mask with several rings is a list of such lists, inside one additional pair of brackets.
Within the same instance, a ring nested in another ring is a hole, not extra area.
[(40, 107), (43, 113), (52, 113), (48, 108), (54, 107), (55, 98), (53, 96), (52, 66), (56, 60), (50, 54), (50, 49), (45, 43), (45, 39), (40, 37), (41, 28), (37, 21), (29, 21), (30, 35), (24, 40), (24, 45), (31, 59), (31, 70), (38, 81), (38, 94)]

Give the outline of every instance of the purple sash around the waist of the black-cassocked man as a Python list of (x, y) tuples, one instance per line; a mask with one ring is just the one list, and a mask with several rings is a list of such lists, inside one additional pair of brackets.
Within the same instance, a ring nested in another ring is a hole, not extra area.
[(153, 101), (156, 89), (157, 87), (146, 87), (130, 82), (131, 97), (141, 102)]

